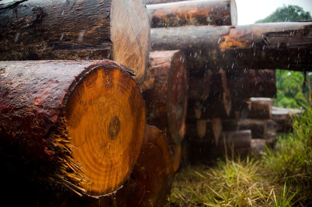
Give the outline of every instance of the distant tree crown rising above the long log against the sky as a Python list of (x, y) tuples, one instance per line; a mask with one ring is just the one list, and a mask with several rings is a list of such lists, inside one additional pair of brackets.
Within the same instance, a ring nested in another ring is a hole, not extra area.
[(262, 20), (256, 21), (256, 23), (261, 22), (280, 22), (280, 21), (302, 21), (311, 20), (310, 12), (305, 12), (302, 7), (295, 5), (288, 5), (286, 7), (280, 7), (275, 10), (271, 15), (267, 16)]

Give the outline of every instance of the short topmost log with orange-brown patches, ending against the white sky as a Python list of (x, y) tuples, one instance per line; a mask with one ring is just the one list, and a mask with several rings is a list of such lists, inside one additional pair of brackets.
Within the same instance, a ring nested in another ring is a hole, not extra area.
[(236, 25), (235, 0), (192, 0), (146, 5), (151, 27)]

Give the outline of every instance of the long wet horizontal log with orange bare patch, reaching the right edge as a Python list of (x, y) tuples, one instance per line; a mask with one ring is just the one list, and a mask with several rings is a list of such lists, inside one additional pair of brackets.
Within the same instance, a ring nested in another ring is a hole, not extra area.
[(153, 50), (181, 49), (188, 64), (210, 70), (312, 68), (312, 23), (183, 26), (151, 29)]

